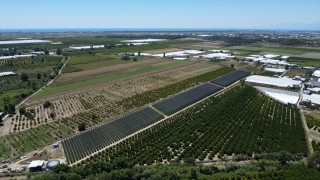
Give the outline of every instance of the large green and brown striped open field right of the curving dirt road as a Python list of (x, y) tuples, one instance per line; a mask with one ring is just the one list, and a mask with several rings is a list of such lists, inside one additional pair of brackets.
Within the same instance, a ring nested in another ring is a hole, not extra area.
[[(73, 58), (73, 57), (72, 57)], [(71, 58), (71, 59), (72, 59)], [(83, 57), (76, 59), (82, 59)], [(67, 64), (68, 69), (78, 69), (80, 72), (64, 73), (52, 84), (38, 93), (35, 97), (54, 94), (57, 92), (74, 90), (94, 84), (117, 80), (125, 77), (153, 72), (179, 65), (187, 65), (188, 61), (174, 61), (162, 58), (138, 58), (137, 62), (120, 60), (119, 58), (106, 58), (105, 61), (92, 62), (88, 64)], [(71, 60), (70, 59), (70, 60)], [(189, 63), (190, 64), (190, 63)], [(70, 68), (69, 68), (70, 67)]]

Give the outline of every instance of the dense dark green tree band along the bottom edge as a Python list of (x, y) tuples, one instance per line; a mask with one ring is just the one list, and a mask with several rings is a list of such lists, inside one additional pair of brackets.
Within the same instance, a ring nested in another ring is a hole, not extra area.
[(301, 163), (281, 165), (273, 161), (245, 164), (234, 162), (221, 163), (218, 166), (194, 164), (156, 164), (155, 166), (133, 166), (126, 159), (116, 158), (113, 162), (90, 162), (86, 165), (68, 167), (60, 164), (52, 171), (28, 175), (34, 180), (57, 179), (94, 179), (94, 180), (226, 180), (226, 179), (318, 179), (319, 170), (308, 168)]

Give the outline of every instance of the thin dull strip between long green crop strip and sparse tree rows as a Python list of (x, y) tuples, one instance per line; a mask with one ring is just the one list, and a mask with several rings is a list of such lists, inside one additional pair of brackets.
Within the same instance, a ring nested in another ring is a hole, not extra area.
[[(129, 81), (131, 79), (134, 78), (138, 78), (138, 77), (143, 77), (143, 76), (147, 76), (147, 75), (152, 75), (152, 74), (156, 74), (156, 73), (160, 73), (160, 72), (165, 72), (165, 71), (169, 71), (169, 70), (173, 70), (173, 69), (177, 69), (177, 68), (181, 68), (181, 67), (185, 67), (185, 66), (192, 66), (194, 64), (197, 64), (200, 62), (190, 62), (188, 64), (183, 64), (180, 66), (175, 66), (175, 67), (171, 67), (171, 68), (166, 68), (166, 69), (161, 69), (161, 70), (156, 70), (156, 71), (152, 71), (152, 72), (147, 72), (147, 73), (142, 73), (142, 74), (138, 74), (138, 75), (134, 75), (134, 76), (130, 76), (130, 77), (125, 77), (125, 78), (121, 78), (121, 79), (116, 79), (116, 80), (112, 80), (112, 81), (107, 81), (107, 82), (103, 82), (103, 83), (98, 83), (98, 84), (94, 84), (94, 85), (89, 85), (89, 86), (85, 86), (85, 87), (81, 87), (81, 88), (76, 88), (76, 89), (72, 89), (72, 90), (67, 90), (67, 91), (62, 91), (59, 93), (54, 93), (54, 94), (50, 94), (50, 95), (45, 95), (45, 96), (41, 96), (41, 97), (36, 97), (33, 99), (30, 99), (30, 101), (26, 102), (27, 104), (31, 104), (35, 101), (41, 103), (47, 100), (53, 100), (59, 97), (68, 97), (69, 95), (76, 95), (76, 94), (80, 94), (80, 93), (84, 93), (84, 92), (89, 92), (92, 91), (94, 89), (99, 89), (102, 88), (104, 86), (110, 85), (110, 84), (114, 84), (117, 82), (124, 82), (124, 81)], [(38, 104), (38, 103), (37, 103)]]

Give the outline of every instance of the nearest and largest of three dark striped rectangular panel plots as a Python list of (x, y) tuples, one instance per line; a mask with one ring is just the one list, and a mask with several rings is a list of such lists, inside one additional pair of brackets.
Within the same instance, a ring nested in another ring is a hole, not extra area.
[(62, 141), (67, 162), (72, 164), (162, 118), (160, 113), (147, 107), (67, 138)]

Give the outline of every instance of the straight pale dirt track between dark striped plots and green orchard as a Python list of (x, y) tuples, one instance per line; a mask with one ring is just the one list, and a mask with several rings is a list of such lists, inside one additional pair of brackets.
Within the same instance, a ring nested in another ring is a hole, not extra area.
[[(208, 96), (208, 97), (206, 97), (206, 98), (204, 98), (204, 99), (201, 99), (201, 100), (199, 100), (199, 101), (197, 101), (197, 102), (189, 105), (188, 107), (185, 107), (185, 108), (181, 109), (180, 111), (177, 111), (177, 112), (175, 112), (175, 113), (173, 113), (173, 114), (171, 114), (171, 115), (169, 115), (169, 116), (165, 116), (165, 118), (163, 118), (163, 119), (161, 119), (161, 120), (159, 120), (159, 121), (157, 121), (157, 122), (155, 122), (155, 123), (153, 123), (153, 124), (151, 124), (151, 125), (143, 128), (143, 129), (140, 129), (140, 130), (138, 130), (137, 132), (135, 132), (135, 133), (133, 133), (133, 134), (131, 134), (131, 135), (129, 135), (129, 136), (126, 136), (125, 138), (122, 138), (122, 139), (120, 139), (119, 141), (117, 141), (117, 142), (115, 142), (115, 143), (113, 143), (113, 144), (110, 144), (110, 145), (106, 146), (105, 148), (100, 149), (99, 151), (96, 151), (96, 152), (94, 152), (94, 153), (86, 156), (85, 158), (82, 158), (82, 159), (80, 159), (80, 160), (78, 160), (78, 161), (76, 161), (76, 162), (74, 162), (74, 163), (72, 163), (72, 164), (69, 164), (69, 165), (74, 166), (74, 165), (76, 165), (76, 164), (78, 164), (78, 163), (81, 163), (81, 161), (90, 158), (90, 156), (93, 156), (93, 155), (95, 155), (95, 154), (98, 154), (99, 152), (102, 152), (102, 151), (106, 150), (107, 148), (110, 148), (110, 147), (112, 147), (112, 146), (114, 146), (114, 145), (117, 145), (117, 144), (121, 143), (122, 141), (124, 141), (124, 140), (126, 140), (126, 139), (128, 139), (128, 138), (130, 138), (130, 137), (132, 137), (132, 136), (134, 136), (134, 135), (136, 135), (136, 134), (139, 134), (140, 132), (143, 132), (143, 131), (145, 131), (145, 130), (147, 130), (147, 129), (149, 129), (149, 128), (151, 128), (151, 127), (153, 127), (153, 126), (155, 126), (155, 125), (157, 125), (157, 124), (159, 124), (159, 123), (161, 123), (161, 122), (163, 122), (163, 121), (166, 121), (167, 119), (169, 119), (169, 118), (171, 118), (171, 117), (173, 117), (173, 116), (175, 116), (175, 115), (177, 115), (177, 114), (185, 111), (186, 109), (189, 109), (189, 108), (192, 107), (192, 106), (195, 106), (195, 105), (197, 105), (197, 104), (199, 104), (199, 103), (201, 103), (201, 102), (203, 102), (203, 101), (205, 101), (205, 100), (207, 100), (207, 99), (209, 99), (209, 98), (211, 98), (211, 97), (213, 97), (213, 96), (217, 96), (217, 95), (220, 95), (220, 94), (224, 93), (226, 90), (229, 90), (230, 88), (238, 85), (239, 82), (240, 82), (240, 81), (236, 81), (235, 83), (233, 83), (232, 85), (230, 85), (230, 86), (228, 86), (228, 87), (225, 87), (225, 88), (222, 89), (221, 91), (218, 91), (218, 92), (216, 92), (216, 93), (214, 93), (214, 94), (212, 94), (212, 95), (210, 95), (210, 96)], [(205, 82), (205, 83), (207, 83), (207, 82)], [(205, 83), (201, 83), (200, 85), (205, 84)], [(152, 106), (152, 105), (150, 105), (150, 106)], [(152, 109), (154, 109), (154, 108), (152, 107)], [(61, 144), (61, 140), (59, 141), (59, 143)], [(62, 148), (63, 148), (63, 147), (62, 147)], [(64, 156), (65, 156), (65, 154), (64, 154)]]

